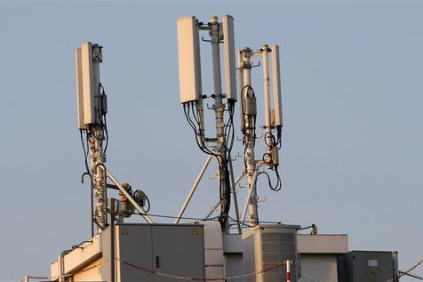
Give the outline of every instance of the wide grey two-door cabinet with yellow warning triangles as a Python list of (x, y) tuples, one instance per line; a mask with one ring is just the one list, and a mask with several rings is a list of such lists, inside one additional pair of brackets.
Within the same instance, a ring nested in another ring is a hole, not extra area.
[[(125, 262), (131, 263), (132, 266)], [(204, 278), (203, 226), (116, 225), (116, 281), (175, 280), (151, 271), (188, 278)]]

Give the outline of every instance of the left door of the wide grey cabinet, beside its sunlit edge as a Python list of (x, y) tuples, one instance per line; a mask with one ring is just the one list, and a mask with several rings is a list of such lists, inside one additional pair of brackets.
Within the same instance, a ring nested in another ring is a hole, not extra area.
[[(123, 224), (116, 226), (116, 276), (119, 282), (153, 282), (151, 227)], [(124, 262), (145, 270), (137, 269)]]

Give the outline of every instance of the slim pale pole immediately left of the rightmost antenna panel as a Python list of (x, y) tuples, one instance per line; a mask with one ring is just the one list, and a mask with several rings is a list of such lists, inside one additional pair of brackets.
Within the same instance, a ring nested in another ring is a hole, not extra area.
[(263, 85), (264, 85), (264, 103), (265, 103), (265, 140), (267, 144), (266, 152), (267, 152), (267, 159), (271, 159), (272, 156), (272, 149), (271, 146), (273, 145), (272, 141), (272, 128), (271, 128), (271, 108), (270, 108), (270, 76), (269, 76), (269, 69), (268, 69), (268, 53), (270, 49), (268, 48), (267, 44), (264, 44), (261, 47), (261, 53), (263, 56)]

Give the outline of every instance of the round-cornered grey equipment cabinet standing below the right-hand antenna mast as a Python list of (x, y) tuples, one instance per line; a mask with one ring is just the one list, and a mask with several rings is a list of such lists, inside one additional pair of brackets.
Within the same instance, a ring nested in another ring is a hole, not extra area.
[[(245, 273), (266, 270), (286, 260), (291, 260), (291, 281), (297, 282), (299, 260), (297, 231), (299, 225), (260, 224), (243, 234), (243, 267)], [(286, 268), (261, 272), (246, 278), (246, 282), (286, 281)]]

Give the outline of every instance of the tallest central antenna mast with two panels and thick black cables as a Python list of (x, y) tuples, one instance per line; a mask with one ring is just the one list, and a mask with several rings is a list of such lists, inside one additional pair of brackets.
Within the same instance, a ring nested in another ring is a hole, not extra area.
[[(213, 93), (204, 95), (201, 79), (200, 59), (200, 30), (208, 31), (211, 44)], [(223, 40), (223, 41), (222, 41)], [(189, 125), (196, 134), (196, 143), (204, 153), (216, 157), (219, 164), (219, 222), (223, 230), (228, 232), (228, 216), (233, 192), (233, 172), (230, 170), (230, 152), (234, 142), (234, 110), (236, 101), (236, 75), (235, 75), (235, 44), (234, 44), (234, 19), (229, 15), (222, 16), (219, 22), (217, 16), (212, 16), (207, 24), (199, 22), (194, 16), (178, 20), (178, 55), (180, 70), (180, 102), (182, 103)], [(220, 67), (220, 44), (224, 47), (225, 93), (222, 91), (222, 78)], [(215, 137), (205, 137), (204, 128), (204, 99), (213, 99), (212, 110), (215, 117)], [(227, 103), (224, 104), (224, 99)], [(228, 113), (225, 120), (225, 112)], [(212, 144), (210, 146), (210, 144)], [(206, 161), (208, 163), (210, 157)], [(205, 165), (206, 166), (206, 165)], [(205, 168), (204, 168), (205, 169)], [(204, 170), (202, 170), (204, 173)], [(200, 173), (201, 174), (201, 173)], [(180, 221), (189, 199), (194, 193), (196, 185), (191, 190), (188, 200), (182, 206), (175, 223)], [(237, 210), (237, 203), (235, 203)], [(238, 213), (236, 212), (238, 216)]]

